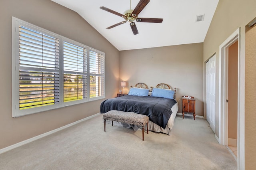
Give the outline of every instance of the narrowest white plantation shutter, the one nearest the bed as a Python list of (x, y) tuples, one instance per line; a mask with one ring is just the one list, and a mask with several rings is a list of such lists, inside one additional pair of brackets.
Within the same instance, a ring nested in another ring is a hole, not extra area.
[(104, 96), (105, 85), (104, 85), (104, 65), (105, 55), (96, 51), (89, 51), (90, 55), (90, 98)]

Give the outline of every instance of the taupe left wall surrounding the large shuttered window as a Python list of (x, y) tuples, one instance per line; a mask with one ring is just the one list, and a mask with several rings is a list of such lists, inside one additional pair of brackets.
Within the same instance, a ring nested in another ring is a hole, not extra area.
[(81, 16), (50, 0), (0, 1), (0, 149), (100, 112), (102, 100), (12, 118), (12, 16), (106, 53), (106, 98), (119, 88), (119, 51)]

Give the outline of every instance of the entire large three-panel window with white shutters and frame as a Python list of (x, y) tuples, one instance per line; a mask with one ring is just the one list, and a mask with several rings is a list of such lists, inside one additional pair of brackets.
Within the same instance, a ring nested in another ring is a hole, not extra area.
[(14, 17), (12, 25), (13, 117), (105, 97), (105, 53)]

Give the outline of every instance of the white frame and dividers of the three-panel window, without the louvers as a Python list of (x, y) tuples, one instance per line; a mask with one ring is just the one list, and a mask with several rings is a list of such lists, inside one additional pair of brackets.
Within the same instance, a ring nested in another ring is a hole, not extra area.
[[(20, 110), (20, 98), (19, 98), (19, 61), (20, 61), (20, 56), (19, 56), (19, 26), (25, 26), (29, 29), (42, 32), (43, 34), (46, 34), (48, 36), (52, 36), (54, 38), (58, 38), (59, 40), (59, 95), (60, 95), (60, 102), (57, 104), (53, 105), (47, 105), (47, 106), (39, 106), (39, 107), (34, 107), (34, 108), (29, 108), (29, 109), (22, 109)], [(78, 99), (75, 101), (68, 101), (64, 102), (64, 42), (71, 43), (73, 45), (77, 45), (79, 47), (82, 47), (86, 49), (86, 98), (84, 99)], [(104, 73), (103, 73), (103, 78), (104, 78), (104, 89), (103, 89), (103, 95), (100, 95), (98, 97), (92, 97), (90, 98), (90, 57), (89, 57), (89, 51), (94, 51), (100, 55), (104, 56)], [(89, 47), (87, 45), (84, 45), (82, 43), (76, 42), (74, 40), (71, 40), (69, 38), (66, 38), (64, 36), (60, 36), (58, 34), (55, 34), (53, 32), (50, 32), (44, 28), (40, 28), (38, 26), (35, 26), (33, 24), (30, 24), (28, 22), (25, 22), (23, 20), (20, 20), (18, 18), (12, 17), (12, 117), (20, 117), (24, 115), (30, 115), (34, 113), (39, 113), (43, 111), (48, 111), (51, 109), (58, 109), (70, 105), (76, 105), (80, 103), (86, 103), (90, 101), (95, 101), (99, 99), (104, 99), (106, 96), (106, 55), (104, 52), (99, 51), (97, 49), (94, 49), (92, 47)]]

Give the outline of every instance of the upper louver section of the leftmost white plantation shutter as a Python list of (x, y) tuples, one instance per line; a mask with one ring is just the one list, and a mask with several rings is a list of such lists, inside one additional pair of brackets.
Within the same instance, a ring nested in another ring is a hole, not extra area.
[(59, 40), (20, 26), (20, 66), (58, 69)]

